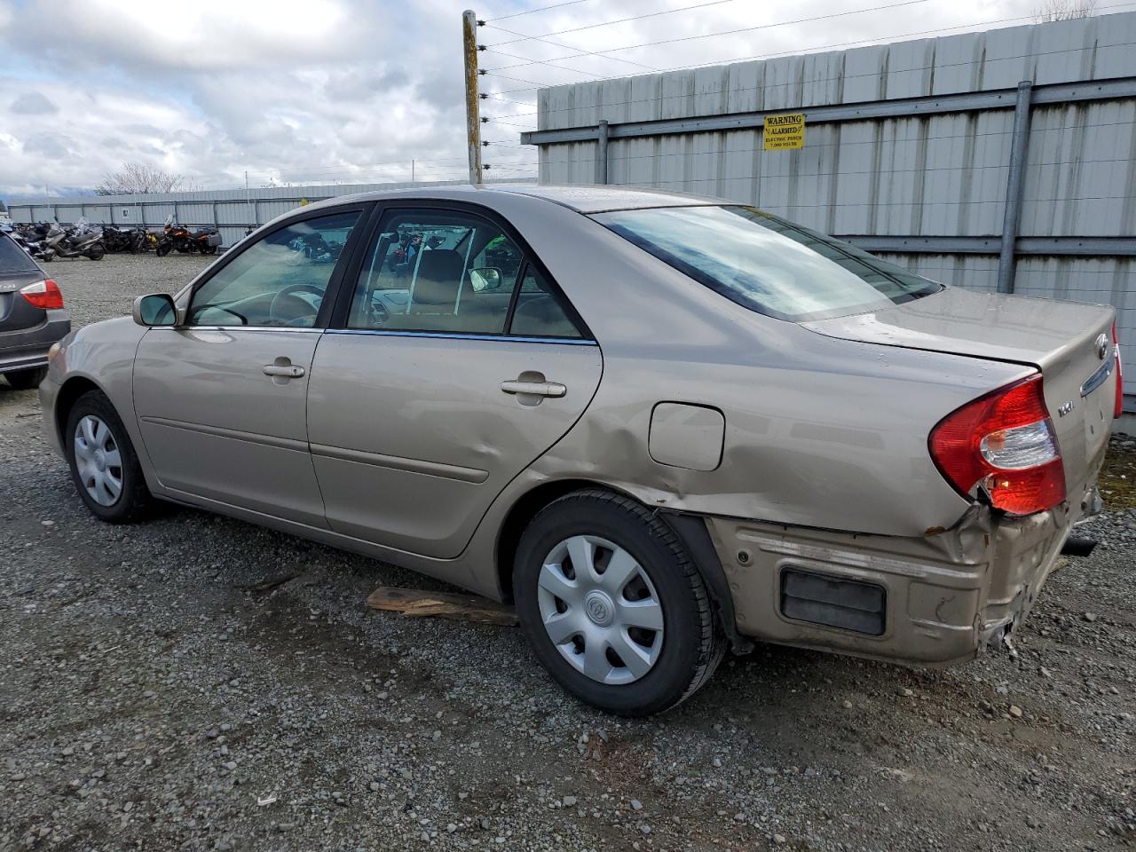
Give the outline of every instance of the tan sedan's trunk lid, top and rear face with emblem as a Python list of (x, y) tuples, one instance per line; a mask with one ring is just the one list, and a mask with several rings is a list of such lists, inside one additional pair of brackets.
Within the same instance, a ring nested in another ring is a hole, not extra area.
[(883, 310), (802, 325), (844, 340), (1036, 367), (1068, 496), (1079, 501), (1108, 448), (1116, 399), (1113, 318), (1108, 306), (946, 287)]

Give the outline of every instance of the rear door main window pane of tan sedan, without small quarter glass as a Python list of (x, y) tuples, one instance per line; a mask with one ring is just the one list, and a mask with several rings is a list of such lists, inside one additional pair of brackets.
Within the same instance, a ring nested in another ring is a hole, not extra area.
[(348, 326), (504, 334), (523, 265), (517, 244), (479, 216), (395, 212), (364, 261)]

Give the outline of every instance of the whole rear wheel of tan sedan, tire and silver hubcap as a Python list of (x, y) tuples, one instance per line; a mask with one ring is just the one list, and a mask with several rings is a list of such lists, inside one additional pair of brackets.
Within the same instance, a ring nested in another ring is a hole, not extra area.
[(521, 535), (513, 567), (521, 629), (568, 692), (620, 716), (690, 698), (725, 652), (710, 596), (675, 532), (633, 500), (580, 491)]

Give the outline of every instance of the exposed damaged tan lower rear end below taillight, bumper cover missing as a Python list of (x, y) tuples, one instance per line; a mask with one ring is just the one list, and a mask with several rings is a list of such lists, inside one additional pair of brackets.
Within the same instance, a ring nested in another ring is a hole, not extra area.
[(919, 538), (707, 518), (741, 634), (908, 665), (976, 655), (1026, 617), (1091, 507), (996, 518), (972, 507)]

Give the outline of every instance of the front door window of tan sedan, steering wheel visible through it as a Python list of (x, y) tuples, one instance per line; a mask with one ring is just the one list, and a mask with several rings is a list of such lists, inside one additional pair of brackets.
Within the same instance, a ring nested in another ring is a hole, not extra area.
[(304, 219), (257, 241), (193, 293), (187, 325), (314, 327), (358, 218)]

